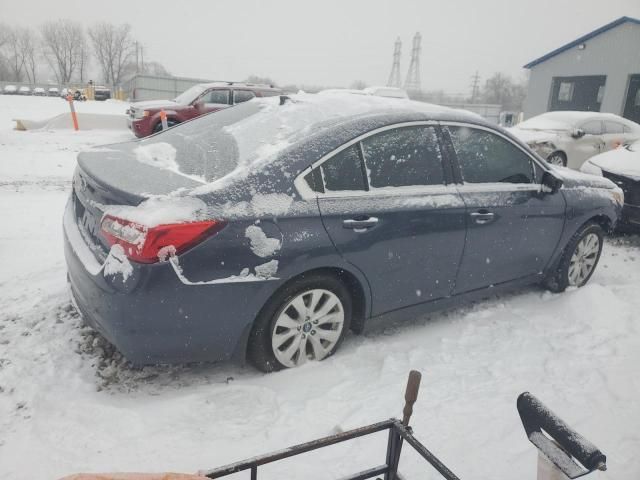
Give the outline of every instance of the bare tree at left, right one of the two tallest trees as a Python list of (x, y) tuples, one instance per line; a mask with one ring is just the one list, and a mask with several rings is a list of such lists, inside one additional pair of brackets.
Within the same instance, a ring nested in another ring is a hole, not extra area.
[(120, 84), (135, 52), (131, 25), (100, 22), (89, 30), (89, 38), (105, 82)]

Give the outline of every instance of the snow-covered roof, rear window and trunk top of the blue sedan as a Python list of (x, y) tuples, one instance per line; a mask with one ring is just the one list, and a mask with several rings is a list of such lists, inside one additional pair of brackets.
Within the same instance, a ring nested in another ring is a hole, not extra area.
[[(101, 178), (122, 177), (117, 182), (131, 190), (142, 187), (133, 184), (139, 183), (136, 178), (118, 172), (117, 162), (122, 162), (123, 172), (133, 159), (141, 168), (173, 174), (172, 182), (165, 178), (161, 187), (144, 186), (148, 192), (156, 188), (155, 194), (195, 187), (199, 187), (196, 193), (220, 191), (249, 176), (260, 177), (256, 188), (272, 192), (293, 188), (291, 175), (352, 138), (390, 124), (427, 120), (489, 125), (471, 112), (411, 100), (300, 93), (254, 98), (141, 141), (112, 145), (107, 154), (110, 162), (104, 161), (104, 154), (91, 151), (81, 153), (78, 160), (81, 168)], [(282, 185), (276, 186), (279, 182)]]

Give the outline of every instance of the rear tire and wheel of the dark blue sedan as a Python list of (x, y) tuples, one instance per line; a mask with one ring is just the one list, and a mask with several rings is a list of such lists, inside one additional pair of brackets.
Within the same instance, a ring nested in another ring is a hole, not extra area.
[(303, 275), (277, 291), (259, 313), (247, 357), (263, 372), (324, 360), (342, 343), (352, 312), (351, 295), (340, 280)]

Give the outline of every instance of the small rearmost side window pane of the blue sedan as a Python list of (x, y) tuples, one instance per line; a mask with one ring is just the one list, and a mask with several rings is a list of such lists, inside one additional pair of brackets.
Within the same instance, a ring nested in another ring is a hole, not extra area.
[(362, 160), (356, 143), (338, 152), (320, 166), (325, 192), (366, 190)]

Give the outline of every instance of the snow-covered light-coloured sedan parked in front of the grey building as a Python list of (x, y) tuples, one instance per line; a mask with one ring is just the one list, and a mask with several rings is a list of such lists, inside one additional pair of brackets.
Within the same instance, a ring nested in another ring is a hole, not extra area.
[(640, 140), (640, 125), (599, 112), (547, 112), (509, 131), (549, 163), (576, 170), (594, 155)]

